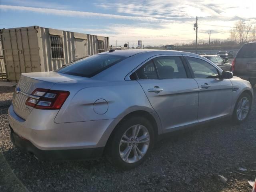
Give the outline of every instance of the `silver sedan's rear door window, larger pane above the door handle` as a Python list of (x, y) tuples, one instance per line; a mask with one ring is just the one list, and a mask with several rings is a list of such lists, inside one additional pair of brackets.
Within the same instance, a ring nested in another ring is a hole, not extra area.
[(178, 56), (163, 56), (154, 58), (160, 79), (187, 78), (182, 60)]

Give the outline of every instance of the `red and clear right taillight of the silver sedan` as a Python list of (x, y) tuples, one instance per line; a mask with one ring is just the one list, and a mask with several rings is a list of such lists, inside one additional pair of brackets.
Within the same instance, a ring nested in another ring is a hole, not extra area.
[(26, 105), (36, 109), (60, 109), (68, 98), (69, 92), (37, 88), (32, 92), (32, 95), (40, 98), (29, 97), (26, 100)]

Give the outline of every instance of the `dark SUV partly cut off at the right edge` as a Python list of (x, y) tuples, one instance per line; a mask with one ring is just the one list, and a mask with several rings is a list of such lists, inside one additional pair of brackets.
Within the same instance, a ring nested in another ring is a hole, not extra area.
[(256, 84), (256, 42), (240, 48), (232, 62), (232, 70), (235, 76), (250, 81), (252, 86)]

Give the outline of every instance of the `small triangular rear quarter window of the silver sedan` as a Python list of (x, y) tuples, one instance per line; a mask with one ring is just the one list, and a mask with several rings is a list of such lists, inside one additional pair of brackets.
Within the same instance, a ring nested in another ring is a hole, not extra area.
[(139, 79), (157, 79), (153, 60), (146, 62), (146, 64), (139, 68), (136, 73)]

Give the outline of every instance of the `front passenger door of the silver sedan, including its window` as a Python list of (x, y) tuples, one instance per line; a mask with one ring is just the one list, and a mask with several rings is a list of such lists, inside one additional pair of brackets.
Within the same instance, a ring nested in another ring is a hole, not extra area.
[(230, 115), (232, 104), (232, 83), (222, 79), (221, 71), (201, 58), (187, 56), (194, 79), (199, 86), (198, 121)]

